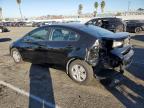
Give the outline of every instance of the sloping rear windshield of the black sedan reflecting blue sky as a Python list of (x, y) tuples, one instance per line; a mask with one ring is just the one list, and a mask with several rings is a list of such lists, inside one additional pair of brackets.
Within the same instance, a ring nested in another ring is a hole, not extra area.
[(95, 36), (95, 37), (101, 37), (101, 36), (114, 34), (113, 32), (111, 32), (109, 30), (103, 29), (98, 26), (93, 26), (93, 25), (86, 25), (85, 27), (82, 27), (80, 29), (90, 35)]

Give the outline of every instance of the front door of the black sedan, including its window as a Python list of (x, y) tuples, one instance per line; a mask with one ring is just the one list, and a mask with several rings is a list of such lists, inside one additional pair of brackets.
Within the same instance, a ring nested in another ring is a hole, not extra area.
[(47, 50), (48, 28), (38, 28), (23, 38), (22, 54), (32, 63), (44, 63)]

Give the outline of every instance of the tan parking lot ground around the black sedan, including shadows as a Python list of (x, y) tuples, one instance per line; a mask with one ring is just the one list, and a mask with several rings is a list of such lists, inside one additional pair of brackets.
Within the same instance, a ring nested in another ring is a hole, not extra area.
[(135, 54), (116, 87), (73, 82), (60, 67), (15, 64), (9, 45), (32, 27), (9, 28), (0, 33), (0, 108), (144, 108), (144, 33), (132, 36)]

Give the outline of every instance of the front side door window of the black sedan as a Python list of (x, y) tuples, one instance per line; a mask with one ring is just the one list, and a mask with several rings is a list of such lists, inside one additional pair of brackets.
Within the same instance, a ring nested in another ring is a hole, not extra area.
[(46, 28), (41, 28), (30, 33), (29, 37), (33, 38), (36, 41), (42, 41), (48, 39), (49, 31)]

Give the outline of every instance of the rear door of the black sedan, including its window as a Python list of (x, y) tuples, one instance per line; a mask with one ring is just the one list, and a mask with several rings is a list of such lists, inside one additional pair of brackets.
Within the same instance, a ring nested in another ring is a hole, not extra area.
[(78, 48), (80, 35), (62, 27), (52, 27), (47, 44), (47, 62), (65, 64), (69, 54)]

